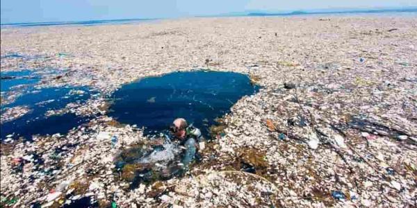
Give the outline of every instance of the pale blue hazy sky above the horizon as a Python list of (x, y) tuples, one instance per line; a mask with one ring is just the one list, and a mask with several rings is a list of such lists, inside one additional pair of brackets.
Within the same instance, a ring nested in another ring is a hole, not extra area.
[(417, 0), (1, 0), (1, 24), (93, 19), (174, 18), (249, 10), (398, 8)]

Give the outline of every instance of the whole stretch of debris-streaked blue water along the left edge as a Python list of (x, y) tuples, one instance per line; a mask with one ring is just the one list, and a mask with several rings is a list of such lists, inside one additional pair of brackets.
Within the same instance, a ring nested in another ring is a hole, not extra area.
[[(22, 117), (1, 123), (1, 140), (6, 139), (7, 135), (13, 135), (14, 139), (24, 137), (30, 140), (32, 135), (65, 134), (71, 128), (88, 120), (75, 114), (45, 116), (48, 110), (59, 110), (68, 103), (84, 103), (90, 98), (90, 91), (88, 87), (36, 87), (42, 76), (51, 75), (45, 73), (47, 69), (39, 71), (26, 69), (1, 72), (1, 99), (16, 96), (11, 102), (1, 103), (1, 114), (3, 115), (8, 108), (17, 106), (26, 106), (30, 109)], [(54, 73), (54, 70), (49, 72)], [(79, 94), (81, 91), (83, 93)]]

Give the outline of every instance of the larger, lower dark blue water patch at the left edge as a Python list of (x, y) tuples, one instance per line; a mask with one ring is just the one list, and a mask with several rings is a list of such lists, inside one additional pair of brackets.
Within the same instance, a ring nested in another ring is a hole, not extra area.
[[(83, 94), (72, 94), (82, 90)], [(88, 119), (75, 114), (45, 116), (48, 110), (59, 110), (68, 103), (85, 103), (90, 97), (87, 87), (42, 88), (17, 98), (14, 103), (1, 107), (3, 114), (8, 107), (27, 106), (31, 111), (13, 121), (1, 124), (1, 139), (6, 135), (31, 139), (32, 135), (65, 134), (68, 130), (86, 122)]]

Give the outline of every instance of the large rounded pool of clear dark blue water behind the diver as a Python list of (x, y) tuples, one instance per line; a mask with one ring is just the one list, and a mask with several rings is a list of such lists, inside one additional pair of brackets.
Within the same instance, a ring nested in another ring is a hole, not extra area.
[(143, 78), (122, 86), (112, 98), (109, 116), (121, 123), (145, 126), (145, 134), (166, 130), (175, 118), (208, 137), (215, 119), (229, 112), (240, 98), (255, 94), (259, 87), (241, 73), (188, 71)]

